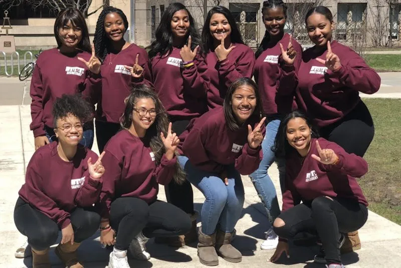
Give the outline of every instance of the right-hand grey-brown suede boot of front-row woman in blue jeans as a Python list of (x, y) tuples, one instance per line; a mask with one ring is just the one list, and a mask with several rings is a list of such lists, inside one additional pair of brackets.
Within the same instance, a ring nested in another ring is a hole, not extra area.
[(233, 232), (225, 233), (217, 231), (216, 235), (216, 251), (225, 260), (230, 262), (240, 262), (242, 260), (241, 252), (231, 245)]

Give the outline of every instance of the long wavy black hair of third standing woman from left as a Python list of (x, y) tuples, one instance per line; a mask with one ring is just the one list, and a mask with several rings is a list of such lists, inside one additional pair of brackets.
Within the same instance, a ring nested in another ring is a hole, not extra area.
[(173, 3), (167, 7), (163, 16), (161, 17), (159, 26), (157, 27), (155, 33), (156, 39), (148, 47), (148, 55), (150, 59), (155, 57), (157, 54), (160, 54), (160, 56), (164, 56), (167, 53), (170, 54), (172, 52), (172, 43), (174, 41), (174, 36), (171, 32), (171, 20), (174, 14), (180, 10), (186, 11), (189, 18), (189, 29), (186, 36), (185, 44), (188, 42), (188, 36), (191, 36), (191, 50), (194, 50), (197, 45), (200, 45), (200, 36), (192, 15), (188, 11), (188, 9), (181, 3)]

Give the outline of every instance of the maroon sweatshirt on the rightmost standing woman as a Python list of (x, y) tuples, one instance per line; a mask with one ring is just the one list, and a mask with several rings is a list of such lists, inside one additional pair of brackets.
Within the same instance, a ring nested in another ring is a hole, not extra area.
[(298, 108), (308, 112), (318, 126), (332, 124), (349, 113), (360, 101), (359, 91), (373, 94), (380, 88), (380, 76), (352, 49), (337, 41), (331, 49), (341, 61), (337, 72), (328, 70), (316, 58), (325, 60), (327, 50), (304, 51), (298, 71)]

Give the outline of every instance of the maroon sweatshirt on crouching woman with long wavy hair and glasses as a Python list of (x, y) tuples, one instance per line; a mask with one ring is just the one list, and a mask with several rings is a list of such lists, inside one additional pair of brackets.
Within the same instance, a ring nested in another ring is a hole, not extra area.
[(102, 159), (106, 170), (100, 195), (100, 210), (109, 217), (110, 204), (119, 197), (136, 197), (147, 203), (156, 200), (158, 184), (167, 185), (175, 172), (176, 158), (162, 156), (156, 166), (149, 141), (133, 136), (122, 129), (113, 136), (104, 149)]

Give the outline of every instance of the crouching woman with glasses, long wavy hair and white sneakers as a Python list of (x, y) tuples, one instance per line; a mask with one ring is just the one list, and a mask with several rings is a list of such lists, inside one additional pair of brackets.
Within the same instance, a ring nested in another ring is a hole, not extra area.
[[(167, 113), (153, 89), (140, 85), (127, 98), (122, 130), (105, 148), (101, 208), (101, 243), (114, 245), (109, 267), (126, 267), (127, 250), (149, 259), (146, 241), (189, 231), (190, 219), (181, 209), (157, 200), (158, 184), (185, 176), (176, 159), (179, 139), (171, 132)], [(116, 236), (115, 236), (116, 234)]]

